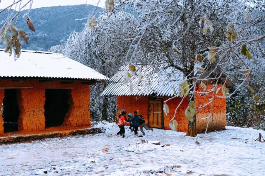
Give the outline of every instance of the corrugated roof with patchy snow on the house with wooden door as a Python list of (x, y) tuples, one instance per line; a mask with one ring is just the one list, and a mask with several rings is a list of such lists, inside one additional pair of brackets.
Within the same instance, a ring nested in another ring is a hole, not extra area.
[[(142, 82), (138, 84), (138, 70), (142, 72)], [(129, 71), (128, 65), (123, 66), (110, 79), (110, 83), (102, 92), (103, 96), (174, 96), (173, 87), (178, 90), (179, 84), (183, 81), (183, 73), (171, 69), (155, 69), (150, 65), (136, 65), (136, 72), (130, 72), (132, 75), (131, 83), (134, 85), (133, 91), (130, 91), (130, 82), (125, 84), (124, 74)]]

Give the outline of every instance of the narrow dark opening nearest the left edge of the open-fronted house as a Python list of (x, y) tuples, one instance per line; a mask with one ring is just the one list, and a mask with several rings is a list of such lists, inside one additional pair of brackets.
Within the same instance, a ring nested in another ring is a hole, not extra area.
[(5, 89), (5, 97), (1, 108), (4, 133), (18, 131), (19, 107), (16, 99), (16, 89)]

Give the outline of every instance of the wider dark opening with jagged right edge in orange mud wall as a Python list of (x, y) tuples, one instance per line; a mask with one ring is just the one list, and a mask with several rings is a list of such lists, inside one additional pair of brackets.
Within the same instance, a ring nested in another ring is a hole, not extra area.
[(61, 126), (69, 109), (68, 94), (70, 89), (46, 89), (44, 116), (45, 127)]

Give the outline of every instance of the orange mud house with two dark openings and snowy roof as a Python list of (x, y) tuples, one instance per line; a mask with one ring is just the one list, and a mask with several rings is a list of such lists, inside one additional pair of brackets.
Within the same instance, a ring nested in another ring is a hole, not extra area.
[(90, 125), (90, 85), (107, 80), (61, 54), (0, 49), (0, 134)]

